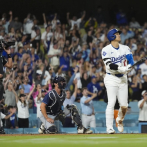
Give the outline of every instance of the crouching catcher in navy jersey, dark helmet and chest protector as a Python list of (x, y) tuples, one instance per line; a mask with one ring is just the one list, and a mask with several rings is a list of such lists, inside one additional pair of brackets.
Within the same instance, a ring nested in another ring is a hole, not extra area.
[[(75, 105), (67, 105), (63, 107), (63, 102), (66, 98), (64, 91), (66, 84), (65, 79), (61, 76), (56, 76), (53, 80), (53, 90), (45, 95), (40, 109), (40, 120), (44, 124), (41, 125), (39, 133), (54, 134), (57, 133), (56, 126), (54, 125), (54, 120), (56, 117), (64, 124), (65, 116), (71, 113), (72, 120), (78, 126), (77, 130), (79, 134), (91, 134), (91, 130), (86, 129), (82, 125), (82, 121), (78, 110)], [(64, 110), (62, 110), (64, 108)]]

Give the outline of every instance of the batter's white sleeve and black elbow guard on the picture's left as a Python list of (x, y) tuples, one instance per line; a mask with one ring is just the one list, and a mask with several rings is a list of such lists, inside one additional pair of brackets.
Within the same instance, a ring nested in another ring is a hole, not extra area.
[(109, 51), (106, 48), (102, 49), (102, 59), (107, 69), (118, 70), (118, 65), (111, 62)]

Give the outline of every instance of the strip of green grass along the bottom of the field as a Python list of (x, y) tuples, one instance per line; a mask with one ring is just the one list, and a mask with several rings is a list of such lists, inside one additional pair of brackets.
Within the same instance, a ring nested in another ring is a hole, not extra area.
[(0, 136), (0, 147), (147, 147), (147, 134)]

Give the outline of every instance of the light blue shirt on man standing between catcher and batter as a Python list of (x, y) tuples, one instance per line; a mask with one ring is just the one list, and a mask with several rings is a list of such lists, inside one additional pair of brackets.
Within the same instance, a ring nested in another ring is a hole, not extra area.
[(83, 96), (80, 100), (82, 114), (91, 115), (93, 113), (93, 102), (92, 100), (89, 103), (84, 103), (90, 97)]

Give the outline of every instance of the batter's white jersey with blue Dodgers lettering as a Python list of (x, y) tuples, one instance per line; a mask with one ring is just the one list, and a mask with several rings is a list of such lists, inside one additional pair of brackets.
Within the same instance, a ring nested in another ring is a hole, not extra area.
[[(102, 59), (107, 59), (105, 61), (103, 60), (105, 66), (108, 61), (111, 61), (111, 63), (117, 64), (118, 66), (127, 66), (127, 59), (129, 59), (127, 56), (132, 56), (130, 48), (122, 44), (119, 44), (119, 48), (114, 48), (111, 44), (109, 44), (102, 49), (101, 54)], [(131, 61), (131, 65), (133, 65), (133, 62), (134, 61)], [(120, 74), (120, 72), (117, 70), (111, 70), (107, 66), (106, 72), (112, 74)]]

